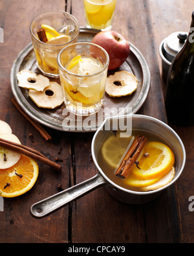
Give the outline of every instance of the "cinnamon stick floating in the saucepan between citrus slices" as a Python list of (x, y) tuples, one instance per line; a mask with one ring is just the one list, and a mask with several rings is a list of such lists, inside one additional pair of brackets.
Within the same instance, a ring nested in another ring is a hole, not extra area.
[(145, 136), (138, 135), (133, 141), (133, 144), (129, 148), (127, 154), (125, 155), (124, 159), (122, 160), (122, 163), (120, 163), (120, 167), (116, 170), (115, 175), (120, 178), (127, 178), (129, 175), (129, 172), (133, 168), (133, 165), (136, 162), (136, 159), (138, 159), (138, 156), (140, 156), (140, 153), (144, 146), (146, 145), (147, 138)]

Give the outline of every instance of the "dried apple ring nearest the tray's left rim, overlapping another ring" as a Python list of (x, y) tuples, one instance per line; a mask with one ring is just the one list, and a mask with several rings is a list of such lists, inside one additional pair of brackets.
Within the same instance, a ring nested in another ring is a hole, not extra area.
[(17, 73), (17, 80), (19, 87), (36, 91), (43, 91), (45, 87), (49, 86), (49, 79), (46, 76), (36, 75), (36, 73), (26, 69)]

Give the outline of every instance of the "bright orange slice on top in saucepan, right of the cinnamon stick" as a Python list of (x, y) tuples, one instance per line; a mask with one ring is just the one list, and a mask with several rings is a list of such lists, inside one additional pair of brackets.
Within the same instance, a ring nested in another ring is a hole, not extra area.
[[(148, 157), (145, 157), (147, 154)], [(144, 154), (139, 160), (140, 169), (133, 167), (133, 174), (140, 179), (150, 180), (164, 176), (175, 163), (175, 156), (169, 146), (151, 141), (144, 147)]]

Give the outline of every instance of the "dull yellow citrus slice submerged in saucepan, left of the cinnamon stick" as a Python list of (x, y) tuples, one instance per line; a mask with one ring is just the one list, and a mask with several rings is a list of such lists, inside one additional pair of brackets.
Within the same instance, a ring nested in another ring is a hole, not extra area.
[(109, 136), (103, 142), (102, 156), (111, 167), (116, 169), (125, 152), (129, 150), (131, 143), (128, 140), (126, 141), (125, 138), (121, 138), (118, 134), (116, 136)]

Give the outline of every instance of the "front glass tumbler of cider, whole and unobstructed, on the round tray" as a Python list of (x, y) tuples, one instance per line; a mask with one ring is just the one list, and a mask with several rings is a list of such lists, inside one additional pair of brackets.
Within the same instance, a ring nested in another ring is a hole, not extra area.
[(75, 115), (91, 115), (103, 106), (109, 55), (94, 43), (65, 47), (58, 55), (64, 102)]

